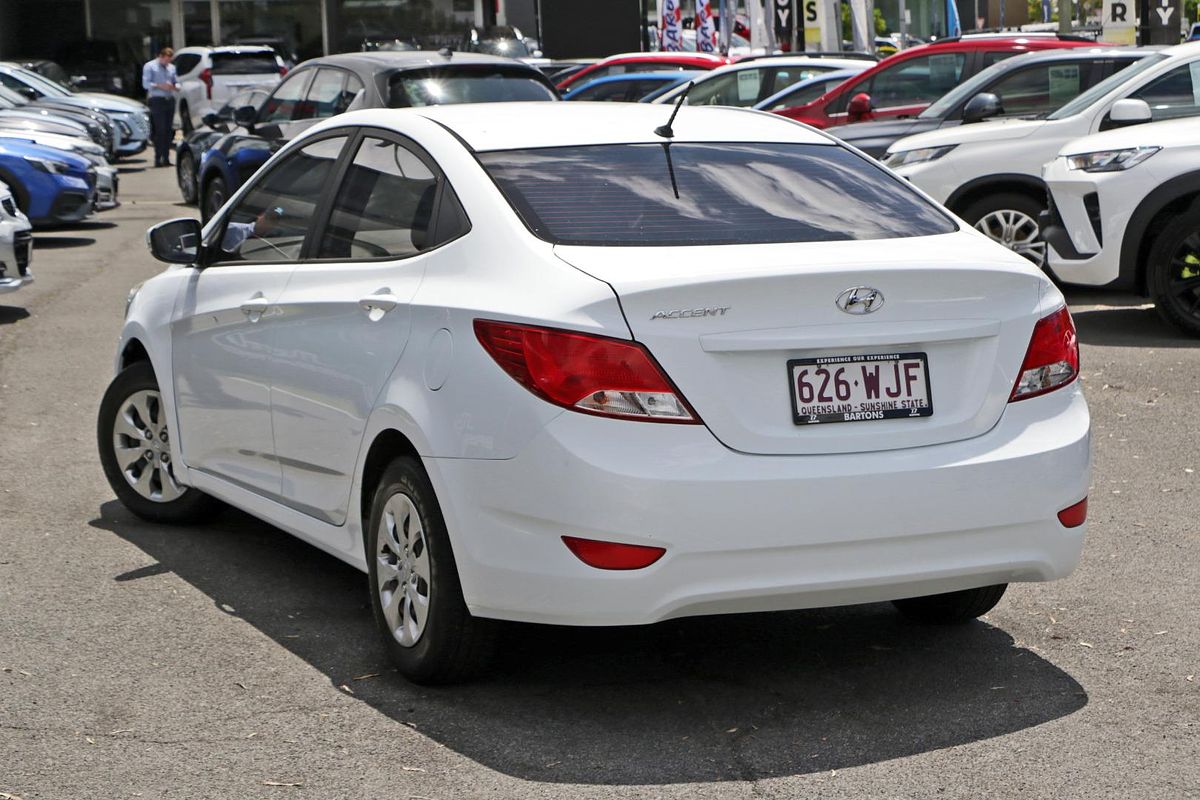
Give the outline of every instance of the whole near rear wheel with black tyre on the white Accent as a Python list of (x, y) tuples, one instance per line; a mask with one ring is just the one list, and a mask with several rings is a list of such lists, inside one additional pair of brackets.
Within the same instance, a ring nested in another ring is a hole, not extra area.
[(442, 509), (416, 458), (391, 462), (364, 527), (371, 608), (400, 673), (425, 685), (478, 674), (497, 622), (467, 609)]

